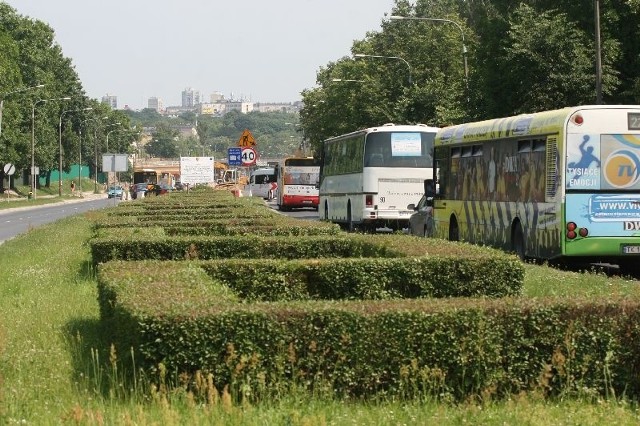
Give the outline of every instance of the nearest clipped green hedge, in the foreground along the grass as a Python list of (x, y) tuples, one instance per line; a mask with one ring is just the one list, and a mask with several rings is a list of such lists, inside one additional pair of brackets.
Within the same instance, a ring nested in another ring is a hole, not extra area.
[(640, 390), (638, 301), (246, 304), (196, 263), (100, 267), (102, 317), (120, 354), (134, 347), (146, 369), (212, 373), (218, 389), (258, 399), (292, 386), (455, 400)]

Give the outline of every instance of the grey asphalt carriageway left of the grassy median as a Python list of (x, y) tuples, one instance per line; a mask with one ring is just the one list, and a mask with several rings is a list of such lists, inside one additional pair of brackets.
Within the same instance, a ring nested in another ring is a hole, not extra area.
[(119, 200), (108, 199), (106, 195), (102, 194), (34, 207), (0, 210), (0, 244), (27, 232), (29, 229), (55, 222), (67, 216), (113, 206), (117, 202)]

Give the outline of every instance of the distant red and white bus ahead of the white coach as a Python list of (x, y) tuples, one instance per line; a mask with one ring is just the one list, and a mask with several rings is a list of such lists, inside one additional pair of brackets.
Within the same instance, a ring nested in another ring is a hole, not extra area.
[(318, 209), (320, 162), (313, 157), (285, 158), (278, 164), (278, 208)]

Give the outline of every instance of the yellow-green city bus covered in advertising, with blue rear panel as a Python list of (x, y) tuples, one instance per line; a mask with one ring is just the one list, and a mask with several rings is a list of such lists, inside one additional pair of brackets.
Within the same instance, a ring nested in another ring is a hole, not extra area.
[(640, 106), (592, 105), (443, 128), (433, 234), (521, 258), (640, 268)]

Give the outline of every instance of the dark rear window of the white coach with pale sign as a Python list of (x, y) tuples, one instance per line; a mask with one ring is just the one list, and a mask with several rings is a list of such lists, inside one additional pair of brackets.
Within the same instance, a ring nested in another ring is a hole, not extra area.
[(434, 138), (434, 133), (427, 132), (370, 133), (365, 143), (364, 166), (432, 167)]

